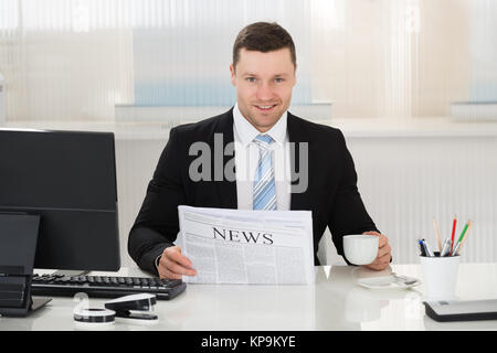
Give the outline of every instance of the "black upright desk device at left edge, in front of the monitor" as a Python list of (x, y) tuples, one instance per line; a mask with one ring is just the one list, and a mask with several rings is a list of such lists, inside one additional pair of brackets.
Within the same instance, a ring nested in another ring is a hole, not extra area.
[(39, 215), (0, 213), (0, 315), (25, 317), (51, 299), (33, 299)]

